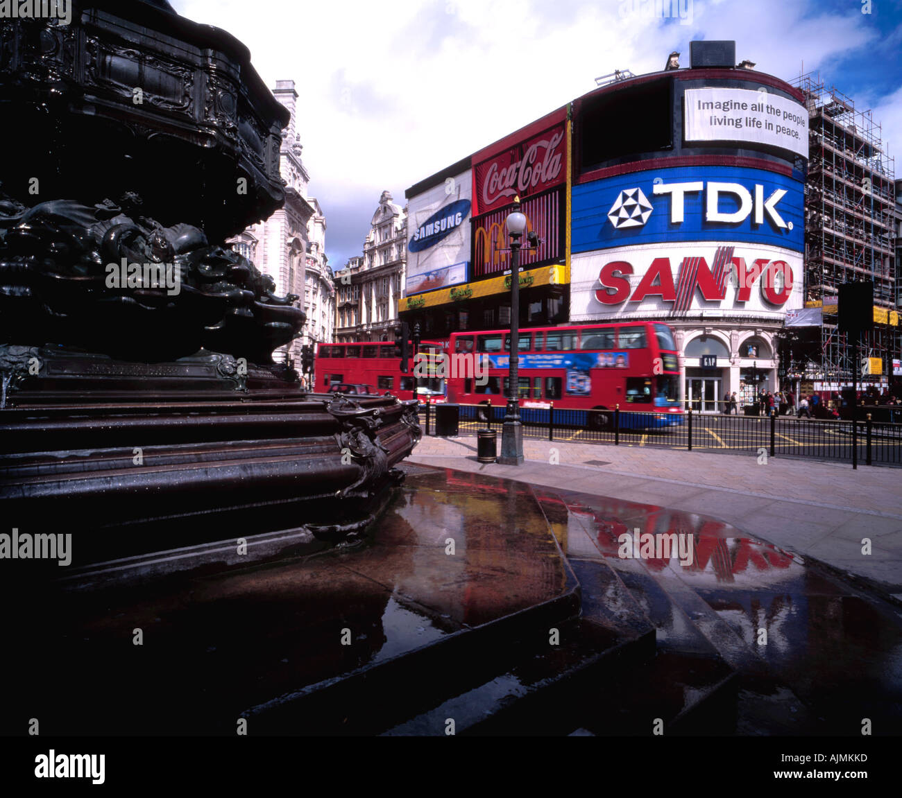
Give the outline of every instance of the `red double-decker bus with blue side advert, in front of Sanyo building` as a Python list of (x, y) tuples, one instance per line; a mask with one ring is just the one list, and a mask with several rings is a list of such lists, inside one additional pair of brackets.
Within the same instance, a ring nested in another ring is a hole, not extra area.
[[(486, 408), (506, 405), (510, 330), (452, 333), (449, 350), (453, 368), (447, 380), (448, 401)], [(624, 321), (530, 327), (520, 331), (519, 350), (520, 416), (524, 421), (548, 423), (553, 402), (556, 409), (577, 411), (570, 414), (572, 421), (590, 428), (610, 427), (610, 411), (618, 405), (624, 411), (621, 427), (682, 423), (677, 349), (666, 324)], [(471, 376), (475, 366), (461, 373), (462, 354), (472, 354), (481, 365), (481, 379)], [(462, 418), (488, 417), (487, 410), (474, 414), (473, 408), (461, 409)], [(589, 410), (596, 412), (586, 412)], [(646, 412), (626, 412), (630, 410)]]

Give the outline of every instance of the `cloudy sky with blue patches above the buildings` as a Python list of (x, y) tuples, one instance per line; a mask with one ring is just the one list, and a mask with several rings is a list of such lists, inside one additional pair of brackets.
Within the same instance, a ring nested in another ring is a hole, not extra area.
[[(310, 195), (333, 269), (363, 249), (382, 190), (404, 191), (591, 91), (663, 69), (689, 41), (819, 72), (873, 108), (902, 177), (902, 0), (170, 0), (244, 41), (269, 87), (294, 79)], [(667, 10), (667, 15), (660, 10)], [(629, 134), (628, 124), (624, 134)]]

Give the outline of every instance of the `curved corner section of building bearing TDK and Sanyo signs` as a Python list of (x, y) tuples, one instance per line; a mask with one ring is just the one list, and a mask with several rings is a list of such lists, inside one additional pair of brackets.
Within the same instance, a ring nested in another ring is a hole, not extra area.
[(730, 45), (574, 104), (571, 321), (667, 321), (703, 411), (777, 389), (775, 333), (803, 305), (807, 109)]

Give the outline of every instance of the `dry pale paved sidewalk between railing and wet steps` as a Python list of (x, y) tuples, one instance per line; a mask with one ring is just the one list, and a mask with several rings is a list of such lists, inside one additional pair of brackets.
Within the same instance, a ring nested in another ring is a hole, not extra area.
[[(498, 440), (501, 448), (501, 436)], [(700, 513), (751, 537), (876, 582), (902, 600), (897, 469), (757, 454), (523, 441), (521, 466), (478, 463), (476, 438), (424, 436), (408, 459), (535, 485)], [(870, 538), (870, 554), (862, 538)]]

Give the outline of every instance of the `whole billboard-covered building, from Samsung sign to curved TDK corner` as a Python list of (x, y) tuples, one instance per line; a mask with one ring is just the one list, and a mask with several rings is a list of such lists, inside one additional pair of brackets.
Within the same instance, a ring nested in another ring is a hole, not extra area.
[[(502, 228), (519, 194), (542, 239), (523, 252), (522, 326), (666, 321), (693, 408), (777, 390), (775, 334), (804, 301), (808, 111), (737, 68), (732, 41), (691, 46), (690, 68), (617, 73), (410, 188), (402, 317), (431, 337), (510, 319)], [(454, 203), (468, 224), (437, 230)]]

